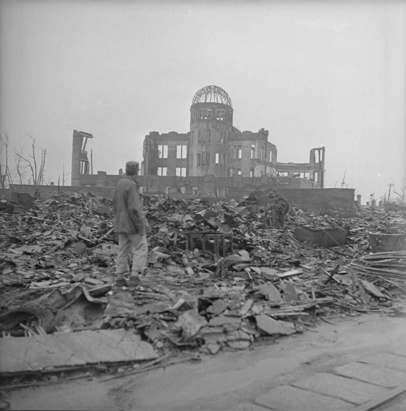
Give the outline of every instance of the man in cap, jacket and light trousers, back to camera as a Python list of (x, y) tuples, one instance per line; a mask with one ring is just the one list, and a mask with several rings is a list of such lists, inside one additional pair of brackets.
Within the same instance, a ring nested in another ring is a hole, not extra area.
[(118, 253), (116, 266), (116, 285), (127, 285), (124, 274), (129, 272), (129, 260), (132, 257), (130, 286), (140, 284), (140, 273), (147, 266), (148, 244), (146, 228), (148, 222), (143, 213), (143, 205), (136, 176), (139, 164), (129, 161), (125, 164), (125, 176), (114, 192), (114, 232), (118, 233)]

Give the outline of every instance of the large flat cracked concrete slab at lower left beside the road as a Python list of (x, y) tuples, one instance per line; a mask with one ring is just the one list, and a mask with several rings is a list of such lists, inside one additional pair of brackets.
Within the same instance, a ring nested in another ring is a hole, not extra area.
[(158, 357), (139, 335), (123, 329), (5, 337), (0, 339), (0, 352), (2, 373)]

